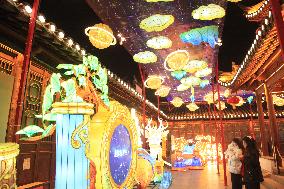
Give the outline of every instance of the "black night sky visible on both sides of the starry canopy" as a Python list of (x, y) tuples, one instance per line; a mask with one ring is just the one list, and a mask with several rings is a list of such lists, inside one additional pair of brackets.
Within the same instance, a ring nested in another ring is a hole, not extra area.
[[(32, 4), (33, 0), (26, 0)], [(248, 22), (243, 15), (241, 6), (251, 6), (261, 0), (243, 0), (241, 3), (228, 2), (224, 29), (223, 45), (219, 51), (219, 70), (231, 71), (232, 62), (240, 64), (255, 38), (257, 23)], [(86, 27), (100, 23), (100, 18), (84, 0), (41, 0), (40, 13), (47, 22), (54, 22), (56, 27), (78, 42), (87, 52), (96, 55), (104, 66), (117, 74), (124, 81), (131, 83), (134, 77), (140, 81), (137, 63), (132, 56), (119, 44), (99, 50), (91, 45), (84, 34)], [(155, 103), (153, 91), (147, 90), (147, 98)]]

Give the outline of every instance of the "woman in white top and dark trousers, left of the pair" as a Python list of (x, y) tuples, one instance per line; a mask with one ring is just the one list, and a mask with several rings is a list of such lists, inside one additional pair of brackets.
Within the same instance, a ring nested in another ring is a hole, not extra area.
[(243, 158), (243, 144), (240, 139), (234, 138), (225, 156), (228, 159), (229, 171), (231, 173), (232, 189), (242, 189), (242, 158)]

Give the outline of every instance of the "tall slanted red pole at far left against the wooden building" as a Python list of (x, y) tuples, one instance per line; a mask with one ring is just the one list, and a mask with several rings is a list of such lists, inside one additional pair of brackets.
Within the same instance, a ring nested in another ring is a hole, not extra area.
[(32, 13), (30, 16), (29, 30), (28, 30), (28, 36), (27, 36), (27, 41), (26, 41), (25, 53), (24, 53), (24, 62), (23, 62), (23, 67), (22, 67), (22, 72), (21, 72), (18, 101), (17, 101), (17, 108), (16, 108), (16, 116), (15, 116), (15, 126), (14, 126), (14, 139), (15, 139), (14, 141), (15, 142), (18, 142), (19, 140), (19, 138), (16, 137), (15, 133), (21, 128), (21, 123), (22, 123), (27, 77), (28, 77), (29, 68), (30, 68), (30, 55), (31, 55), (31, 50), (32, 50), (39, 3), (40, 3), (40, 0), (34, 0), (33, 9), (32, 9)]

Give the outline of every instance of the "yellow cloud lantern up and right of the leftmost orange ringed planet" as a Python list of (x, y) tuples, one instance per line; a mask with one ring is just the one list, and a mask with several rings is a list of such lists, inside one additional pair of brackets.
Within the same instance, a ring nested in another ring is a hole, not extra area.
[(147, 32), (163, 31), (171, 24), (175, 18), (172, 15), (155, 14), (141, 21), (139, 27)]

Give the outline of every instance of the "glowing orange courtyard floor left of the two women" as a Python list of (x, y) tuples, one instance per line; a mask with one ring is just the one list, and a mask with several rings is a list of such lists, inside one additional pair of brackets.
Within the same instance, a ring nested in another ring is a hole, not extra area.
[[(223, 169), (220, 169), (222, 172)], [(216, 165), (208, 165), (204, 170), (192, 170), (187, 172), (172, 172), (173, 183), (171, 189), (231, 189), (230, 175), (228, 185), (224, 186), (223, 174), (217, 174)]]

